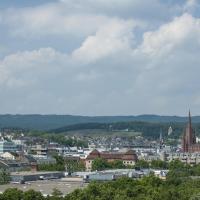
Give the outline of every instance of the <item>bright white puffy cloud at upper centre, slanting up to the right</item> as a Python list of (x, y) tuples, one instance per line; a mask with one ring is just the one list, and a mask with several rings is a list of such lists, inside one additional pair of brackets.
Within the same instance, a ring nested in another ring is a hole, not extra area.
[(133, 21), (115, 19), (108, 22), (73, 52), (74, 60), (90, 63), (115, 53), (130, 51), (134, 44), (133, 28), (135, 26), (136, 23)]

